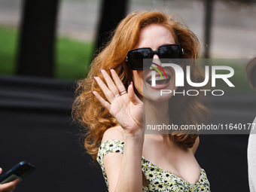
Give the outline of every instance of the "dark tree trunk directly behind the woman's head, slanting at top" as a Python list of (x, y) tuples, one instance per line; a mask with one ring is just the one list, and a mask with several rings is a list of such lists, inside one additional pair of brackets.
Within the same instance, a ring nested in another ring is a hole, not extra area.
[(99, 51), (108, 42), (111, 31), (126, 16), (127, 2), (127, 0), (102, 1), (95, 50)]

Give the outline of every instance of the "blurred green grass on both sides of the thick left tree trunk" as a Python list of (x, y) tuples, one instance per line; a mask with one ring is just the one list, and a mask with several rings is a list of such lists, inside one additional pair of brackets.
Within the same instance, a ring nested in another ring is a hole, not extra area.
[[(0, 75), (15, 75), (17, 29), (0, 27)], [(56, 39), (55, 78), (85, 78), (93, 56), (93, 42)]]

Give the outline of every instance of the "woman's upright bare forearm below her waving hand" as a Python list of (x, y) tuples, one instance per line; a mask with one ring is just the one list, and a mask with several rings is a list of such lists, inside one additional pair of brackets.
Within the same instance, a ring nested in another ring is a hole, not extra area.
[(144, 136), (124, 136), (124, 151), (115, 192), (142, 192), (142, 148)]

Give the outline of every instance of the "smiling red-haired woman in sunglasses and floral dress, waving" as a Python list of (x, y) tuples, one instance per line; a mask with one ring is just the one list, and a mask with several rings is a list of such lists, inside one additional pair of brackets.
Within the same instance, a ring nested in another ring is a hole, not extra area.
[[(102, 167), (109, 191), (210, 190), (194, 157), (198, 135), (145, 134), (143, 123), (144, 118), (176, 125), (206, 120), (208, 110), (198, 96), (159, 96), (160, 89), (181, 88), (175, 86), (173, 69), (165, 67), (166, 78), (156, 76), (155, 86), (151, 75), (163, 69), (160, 59), (196, 59), (199, 50), (196, 35), (183, 23), (160, 11), (134, 12), (119, 23), (87, 78), (78, 82), (72, 113), (86, 130), (84, 146)], [(143, 59), (153, 62), (143, 65)], [(181, 62), (184, 72), (186, 65), (191, 81), (202, 82), (197, 65)]]

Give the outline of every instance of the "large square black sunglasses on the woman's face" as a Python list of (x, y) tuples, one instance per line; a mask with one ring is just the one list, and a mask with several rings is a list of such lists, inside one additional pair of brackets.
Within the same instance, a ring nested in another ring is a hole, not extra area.
[(166, 44), (158, 47), (157, 50), (149, 47), (129, 50), (125, 61), (129, 63), (132, 70), (148, 69), (151, 62), (143, 65), (143, 59), (153, 59), (154, 54), (157, 54), (160, 59), (181, 59), (183, 49), (180, 44)]

